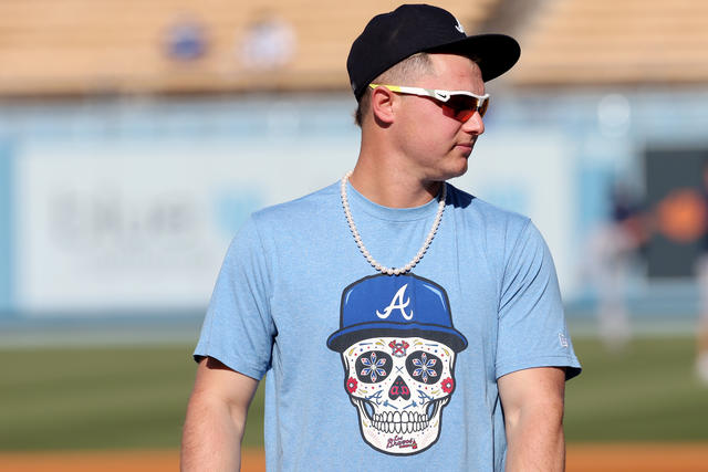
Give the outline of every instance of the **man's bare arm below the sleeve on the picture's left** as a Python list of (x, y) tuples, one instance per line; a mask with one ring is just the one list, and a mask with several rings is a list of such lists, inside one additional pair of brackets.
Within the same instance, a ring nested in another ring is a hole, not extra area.
[(258, 380), (206, 357), (187, 406), (180, 464), (188, 471), (237, 471), (248, 406)]

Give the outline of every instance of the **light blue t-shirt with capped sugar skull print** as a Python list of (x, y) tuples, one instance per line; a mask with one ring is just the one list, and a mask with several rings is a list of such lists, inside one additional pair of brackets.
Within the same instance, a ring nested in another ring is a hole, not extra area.
[[(195, 356), (268, 374), (269, 471), (501, 471), (497, 379), (580, 373), (539, 231), (447, 189), (437, 234), (406, 275), (364, 259), (339, 183), (253, 213), (233, 239)], [(347, 193), (374, 259), (414, 259), (437, 201), (392, 209)]]

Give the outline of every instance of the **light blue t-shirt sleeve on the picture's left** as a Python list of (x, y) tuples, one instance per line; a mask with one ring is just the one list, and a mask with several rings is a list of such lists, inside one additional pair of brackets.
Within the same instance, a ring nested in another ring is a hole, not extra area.
[(266, 251), (251, 217), (231, 241), (194, 353), (260, 380), (270, 367), (275, 327)]

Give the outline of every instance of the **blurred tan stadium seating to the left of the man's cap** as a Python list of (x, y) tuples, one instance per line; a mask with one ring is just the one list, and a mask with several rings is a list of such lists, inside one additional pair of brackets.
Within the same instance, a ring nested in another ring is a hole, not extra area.
[[(475, 31), (499, 0), (438, 2)], [(347, 88), (344, 63), (373, 14), (397, 1), (354, 4), (314, 0), (3, 0), (0, 2), (0, 95), (212, 93), (242, 90)], [(263, 12), (288, 22), (296, 48), (289, 64), (249, 71), (239, 41)], [(204, 28), (205, 54), (186, 63), (165, 53), (170, 24), (188, 17)]]

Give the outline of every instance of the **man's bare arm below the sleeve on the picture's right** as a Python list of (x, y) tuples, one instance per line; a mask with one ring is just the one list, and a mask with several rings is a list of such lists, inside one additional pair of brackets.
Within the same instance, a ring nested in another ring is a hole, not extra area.
[(507, 429), (507, 471), (564, 471), (565, 370), (518, 370), (497, 384)]

